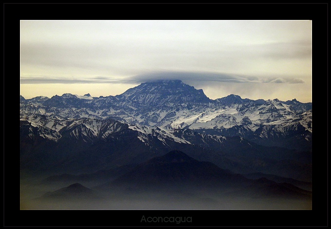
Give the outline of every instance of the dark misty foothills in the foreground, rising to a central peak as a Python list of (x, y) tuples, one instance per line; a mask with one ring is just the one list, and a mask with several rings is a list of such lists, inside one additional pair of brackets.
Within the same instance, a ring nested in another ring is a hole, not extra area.
[[(242, 203), (235, 209), (256, 209), (252, 205), (256, 201), (269, 201), (265, 209), (283, 209), (284, 201), (288, 209), (297, 208), (298, 203), (304, 204), (301, 208), (311, 208), (310, 191), (265, 177), (249, 179), (178, 150), (126, 169), (108, 181), (100, 172), (99, 176), (51, 176), (43, 184), (56, 187), (57, 180), (65, 187), (53, 188), (30, 201), (37, 209), (228, 209), (224, 202), (233, 204), (236, 199)], [(86, 182), (89, 178), (93, 184)], [(68, 183), (63, 183), (66, 180)]]

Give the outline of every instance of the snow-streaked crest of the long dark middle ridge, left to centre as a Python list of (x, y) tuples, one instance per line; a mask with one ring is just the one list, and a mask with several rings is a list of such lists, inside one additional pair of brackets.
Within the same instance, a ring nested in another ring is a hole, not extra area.
[(222, 136), (199, 134), (189, 129), (176, 131), (155, 126), (129, 126), (111, 119), (77, 119), (65, 121), (46, 116), (35, 116), (28, 119), (21, 119), (21, 122), (28, 122), (32, 127), (37, 127), (39, 135), (51, 141), (58, 141), (60, 138), (63, 138), (63, 136), (84, 142), (93, 142), (97, 139), (107, 141), (109, 136), (128, 129), (135, 132), (136, 134), (134, 136), (146, 143), (146, 145), (155, 144), (155, 140), (157, 139), (166, 146), (169, 146), (168, 144), (171, 142), (177, 142), (208, 147), (208, 142), (221, 143), (226, 140), (226, 138)]

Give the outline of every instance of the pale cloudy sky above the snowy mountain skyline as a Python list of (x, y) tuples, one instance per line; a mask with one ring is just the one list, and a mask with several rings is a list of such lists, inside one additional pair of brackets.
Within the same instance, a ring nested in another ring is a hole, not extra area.
[(20, 94), (118, 95), (179, 79), (210, 99), (312, 102), (310, 20), (21, 20)]

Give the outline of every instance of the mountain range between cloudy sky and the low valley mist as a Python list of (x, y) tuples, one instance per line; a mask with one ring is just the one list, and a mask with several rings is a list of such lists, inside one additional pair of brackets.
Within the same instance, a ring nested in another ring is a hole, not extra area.
[[(183, 152), (181, 168), (162, 162), (169, 151)], [(268, 177), (276, 189), (284, 181), (311, 191), (312, 103), (233, 94), (211, 100), (180, 80), (147, 82), (107, 97), (20, 96), (20, 170), (47, 175), (48, 184), (123, 183), (125, 177), (140, 185), (149, 178), (207, 182), (237, 174), (236, 180), (263, 183)], [(163, 175), (153, 176), (157, 171)]]

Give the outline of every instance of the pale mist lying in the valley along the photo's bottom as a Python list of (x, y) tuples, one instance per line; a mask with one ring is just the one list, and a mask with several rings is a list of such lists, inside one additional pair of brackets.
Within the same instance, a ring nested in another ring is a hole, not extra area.
[(56, 193), (72, 183), (43, 184), (40, 178), (21, 180), (20, 210), (312, 210), (309, 197), (258, 196), (236, 188), (107, 190), (97, 181), (86, 181), (80, 184), (91, 190), (87, 194)]

